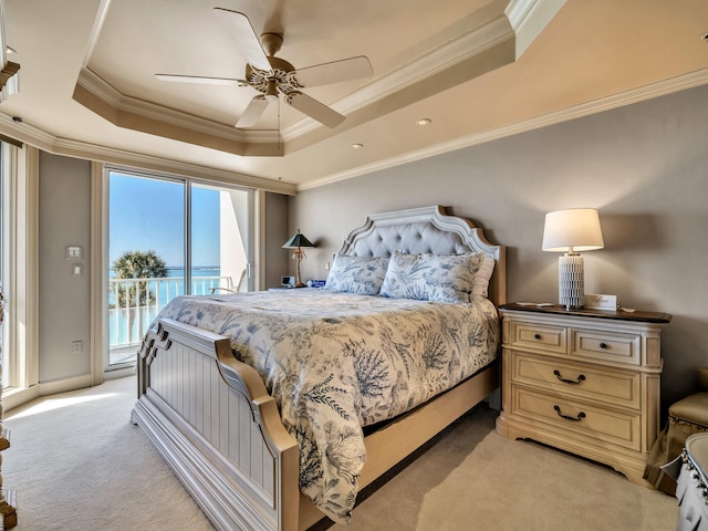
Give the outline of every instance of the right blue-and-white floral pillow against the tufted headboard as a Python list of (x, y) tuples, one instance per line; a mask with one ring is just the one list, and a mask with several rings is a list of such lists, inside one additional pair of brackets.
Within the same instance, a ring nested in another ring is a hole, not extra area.
[[(394, 252), (381, 288), (382, 296), (437, 302), (470, 302), (483, 291), (476, 287), (476, 273), (485, 254), (405, 254)], [(493, 260), (492, 260), (493, 267)]]

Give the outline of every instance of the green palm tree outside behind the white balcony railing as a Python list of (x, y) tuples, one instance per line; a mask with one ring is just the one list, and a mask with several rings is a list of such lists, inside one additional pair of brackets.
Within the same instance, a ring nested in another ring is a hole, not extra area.
[[(163, 279), (167, 277), (167, 266), (155, 251), (126, 251), (113, 262), (116, 279)], [(139, 292), (139, 296), (138, 296)], [(150, 305), (155, 293), (147, 281), (118, 285), (116, 305), (135, 308)]]

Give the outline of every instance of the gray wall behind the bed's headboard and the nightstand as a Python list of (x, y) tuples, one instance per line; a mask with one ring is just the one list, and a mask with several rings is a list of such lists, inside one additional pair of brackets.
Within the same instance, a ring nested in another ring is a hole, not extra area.
[[(668, 312), (666, 405), (708, 365), (708, 86), (469, 147), (290, 198), (290, 229), (317, 249), (302, 275), (324, 278), (367, 214), (445, 205), (508, 246), (508, 301), (558, 300), (558, 254), (541, 251), (544, 214), (600, 210), (603, 250), (586, 252), (585, 291)], [(444, 127), (445, 124), (433, 124)]]

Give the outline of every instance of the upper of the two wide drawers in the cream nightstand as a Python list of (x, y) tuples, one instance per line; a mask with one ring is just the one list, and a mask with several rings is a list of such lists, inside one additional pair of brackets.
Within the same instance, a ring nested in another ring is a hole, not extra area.
[(553, 391), (591, 403), (639, 409), (639, 373), (617, 372), (601, 366), (576, 365), (563, 360), (514, 353), (512, 382)]

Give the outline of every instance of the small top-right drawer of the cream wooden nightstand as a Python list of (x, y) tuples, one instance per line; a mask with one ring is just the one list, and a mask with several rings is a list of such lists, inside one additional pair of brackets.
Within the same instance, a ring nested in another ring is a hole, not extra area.
[(596, 330), (571, 329), (571, 356), (639, 365), (642, 336)]

